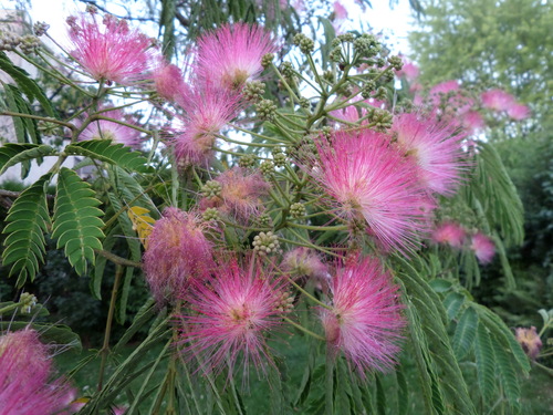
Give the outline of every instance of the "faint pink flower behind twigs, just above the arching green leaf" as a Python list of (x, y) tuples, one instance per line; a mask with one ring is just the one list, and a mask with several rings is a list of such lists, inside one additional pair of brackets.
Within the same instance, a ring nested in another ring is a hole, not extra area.
[[(100, 115), (127, 124), (134, 124), (121, 110), (105, 111), (100, 113)], [(124, 144), (134, 148), (138, 148), (142, 145), (140, 132), (107, 120), (97, 120), (90, 123), (86, 128), (83, 129), (79, 139), (111, 139), (114, 143)]]

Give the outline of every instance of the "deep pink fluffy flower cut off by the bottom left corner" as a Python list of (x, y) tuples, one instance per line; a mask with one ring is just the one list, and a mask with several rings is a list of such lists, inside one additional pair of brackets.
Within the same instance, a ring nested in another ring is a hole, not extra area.
[(0, 336), (0, 413), (54, 415), (65, 412), (74, 391), (54, 370), (48, 349), (31, 329)]

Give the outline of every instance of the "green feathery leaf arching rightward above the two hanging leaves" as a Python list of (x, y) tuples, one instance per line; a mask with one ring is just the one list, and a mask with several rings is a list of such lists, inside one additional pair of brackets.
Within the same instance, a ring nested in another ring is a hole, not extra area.
[(139, 152), (133, 152), (131, 147), (123, 144), (113, 144), (109, 139), (88, 139), (73, 143), (65, 147), (64, 153), (94, 158), (133, 172), (153, 172)]

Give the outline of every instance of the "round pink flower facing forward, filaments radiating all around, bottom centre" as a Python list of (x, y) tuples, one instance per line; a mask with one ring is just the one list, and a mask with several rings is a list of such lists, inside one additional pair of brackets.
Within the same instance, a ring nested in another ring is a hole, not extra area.
[(249, 268), (236, 260), (221, 264), (216, 278), (194, 284), (187, 297), (195, 313), (182, 317), (182, 340), (190, 343), (185, 353), (200, 355), (202, 371), (228, 366), (230, 376), (241, 355), (246, 377), (250, 363), (258, 370), (272, 363), (265, 333), (281, 324), (281, 283)]

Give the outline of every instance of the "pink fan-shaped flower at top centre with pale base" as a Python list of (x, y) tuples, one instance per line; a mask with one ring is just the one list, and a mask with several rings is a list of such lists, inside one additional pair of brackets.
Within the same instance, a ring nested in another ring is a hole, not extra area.
[(225, 24), (198, 41), (197, 73), (217, 87), (238, 90), (262, 71), (261, 58), (276, 51), (270, 33), (253, 24)]

